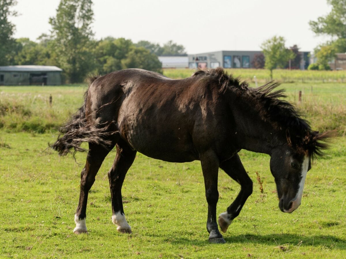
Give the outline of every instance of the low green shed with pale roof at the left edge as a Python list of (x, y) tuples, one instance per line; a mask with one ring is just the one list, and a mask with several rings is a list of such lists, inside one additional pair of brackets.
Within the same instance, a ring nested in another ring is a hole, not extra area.
[(0, 85), (61, 85), (55, 66), (0, 66)]

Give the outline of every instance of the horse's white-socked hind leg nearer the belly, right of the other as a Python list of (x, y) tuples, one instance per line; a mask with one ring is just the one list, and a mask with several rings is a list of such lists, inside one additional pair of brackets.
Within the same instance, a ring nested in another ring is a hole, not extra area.
[(112, 199), (112, 221), (116, 224), (117, 230), (121, 233), (131, 233), (131, 227), (125, 219), (122, 207), (121, 187), (127, 171), (135, 160), (137, 151), (124, 142), (120, 141), (117, 145), (117, 155), (112, 168), (108, 172), (108, 180)]

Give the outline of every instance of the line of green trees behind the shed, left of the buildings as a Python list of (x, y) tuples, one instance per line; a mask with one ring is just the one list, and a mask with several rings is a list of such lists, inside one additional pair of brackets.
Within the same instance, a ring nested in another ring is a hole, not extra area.
[(64, 70), (67, 83), (78, 83), (88, 74), (107, 74), (125, 68), (143, 68), (162, 73), (157, 56), (186, 55), (182, 45), (168, 41), (163, 46), (125, 38), (94, 39), (92, 0), (61, 0), (56, 16), (49, 18), (51, 32), (37, 42), (13, 38), (9, 21), (17, 1), (0, 0), (0, 66), (50, 65)]

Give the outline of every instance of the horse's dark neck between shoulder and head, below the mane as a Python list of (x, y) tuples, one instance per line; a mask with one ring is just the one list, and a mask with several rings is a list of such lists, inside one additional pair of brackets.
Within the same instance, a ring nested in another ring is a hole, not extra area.
[(245, 150), (271, 154), (275, 146), (284, 144), (282, 133), (261, 119), (252, 107), (236, 119), (239, 147)]

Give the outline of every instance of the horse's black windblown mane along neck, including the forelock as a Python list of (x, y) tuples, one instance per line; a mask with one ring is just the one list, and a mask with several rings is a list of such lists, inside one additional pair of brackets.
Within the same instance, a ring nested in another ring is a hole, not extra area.
[(283, 100), (284, 89), (275, 90), (280, 84), (271, 81), (263, 86), (248, 87), (246, 81), (240, 82), (240, 78), (234, 78), (224, 69), (198, 70), (192, 76), (210, 76), (218, 81), (220, 92), (228, 89), (237, 89), (241, 96), (251, 103), (263, 121), (268, 121), (276, 130), (284, 130), (288, 144), (300, 152), (308, 152), (310, 155), (322, 155), (322, 150), (327, 148), (326, 140), (330, 132), (319, 133), (313, 131), (310, 123), (301, 118), (292, 103)]

